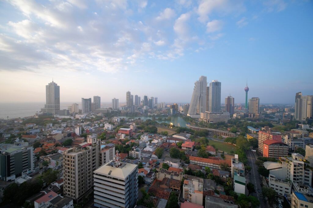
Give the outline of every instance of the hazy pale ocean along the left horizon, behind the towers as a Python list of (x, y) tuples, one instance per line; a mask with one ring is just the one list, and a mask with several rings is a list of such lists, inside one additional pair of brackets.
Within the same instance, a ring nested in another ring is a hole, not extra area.
[[(79, 108), (81, 108), (81, 103)], [(44, 108), (44, 102), (40, 103), (0, 103), (0, 119), (14, 119), (14, 118), (23, 118), (27, 116), (33, 116), (36, 112), (39, 112), (40, 109)], [(60, 103), (60, 109), (67, 109), (73, 103)], [(101, 108), (111, 107), (111, 103), (102, 103)]]

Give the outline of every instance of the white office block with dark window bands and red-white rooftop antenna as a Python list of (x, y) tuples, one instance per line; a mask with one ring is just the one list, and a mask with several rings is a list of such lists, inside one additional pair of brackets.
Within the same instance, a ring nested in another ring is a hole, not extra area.
[[(118, 154), (117, 156), (118, 157)], [(138, 166), (110, 161), (94, 171), (94, 206), (132, 208), (138, 198)]]

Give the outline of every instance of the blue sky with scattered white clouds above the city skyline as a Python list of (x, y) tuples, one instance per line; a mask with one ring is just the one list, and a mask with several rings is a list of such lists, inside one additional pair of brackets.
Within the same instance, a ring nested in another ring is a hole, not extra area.
[(189, 103), (201, 75), (221, 102), (294, 103), (313, 94), (313, 2), (305, 0), (0, 1), (0, 102), (62, 102), (126, 91)]

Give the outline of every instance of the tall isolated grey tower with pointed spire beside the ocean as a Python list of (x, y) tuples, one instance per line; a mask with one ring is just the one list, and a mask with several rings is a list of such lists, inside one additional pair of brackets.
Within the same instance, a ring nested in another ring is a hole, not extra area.
[(46, 85), (46, 104), (41, 109), (43, 113), (56, 114), (56, 110), (60, 109), (60, 86), (55, 82)]

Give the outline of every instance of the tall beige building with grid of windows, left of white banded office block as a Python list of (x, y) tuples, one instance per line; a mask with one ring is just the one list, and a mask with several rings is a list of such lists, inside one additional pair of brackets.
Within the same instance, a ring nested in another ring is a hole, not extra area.
[(99, 165), (99, 145), (96, 135), (87, 142), (63, 151), (64, 196), (75, 201), (82, 199), (93, 187), (93, 171)]

